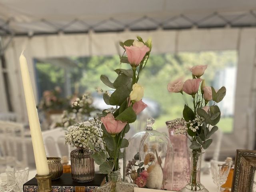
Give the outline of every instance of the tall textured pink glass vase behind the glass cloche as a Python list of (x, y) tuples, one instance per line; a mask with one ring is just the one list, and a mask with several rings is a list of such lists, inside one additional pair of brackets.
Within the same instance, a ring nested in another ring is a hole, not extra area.
[(179, 191), (190, 180), (190, 155), (188, 153), (187, 137), (182, 134), (175, 134), (174, 127), (169, 121), (166, 122), (169, 130), (169, 138), (174, 152), (173, 162), (173, 190)]

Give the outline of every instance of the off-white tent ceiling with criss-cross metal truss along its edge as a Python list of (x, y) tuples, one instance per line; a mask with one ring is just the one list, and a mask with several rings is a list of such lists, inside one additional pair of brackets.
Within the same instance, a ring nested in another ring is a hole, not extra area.
[(0, 0), (0, 35), (256, 26), (256, 0)]

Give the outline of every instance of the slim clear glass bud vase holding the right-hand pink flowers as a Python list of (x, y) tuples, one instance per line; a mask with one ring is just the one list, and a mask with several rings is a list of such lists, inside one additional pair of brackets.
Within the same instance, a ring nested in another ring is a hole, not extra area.
[(180, 192), (209, 192), (200, 182), (202, 152), (192, 151), (190, 159), (190, 182)]

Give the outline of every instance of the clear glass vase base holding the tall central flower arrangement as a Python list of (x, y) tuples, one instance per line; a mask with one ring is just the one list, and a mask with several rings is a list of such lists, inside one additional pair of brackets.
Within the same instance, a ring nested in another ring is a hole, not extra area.
[(134, 192), (136, 184), (123, 182), (120, 170), (108, 174), (108, 183), (100, 186), (95, 192)]

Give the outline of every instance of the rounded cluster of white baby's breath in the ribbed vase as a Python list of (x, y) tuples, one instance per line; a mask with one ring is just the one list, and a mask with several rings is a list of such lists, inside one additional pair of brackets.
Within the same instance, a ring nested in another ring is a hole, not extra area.
[(90, 125), (84, 123), (76, 124), (68, 128), (68, 132), (65, 134), (66, 144), (72, 147), (82, 147), (88, 149), (90, 153), (91, 146), (94, 147), (94, 151), (102, 151), (101, 140), (98, 130)]

